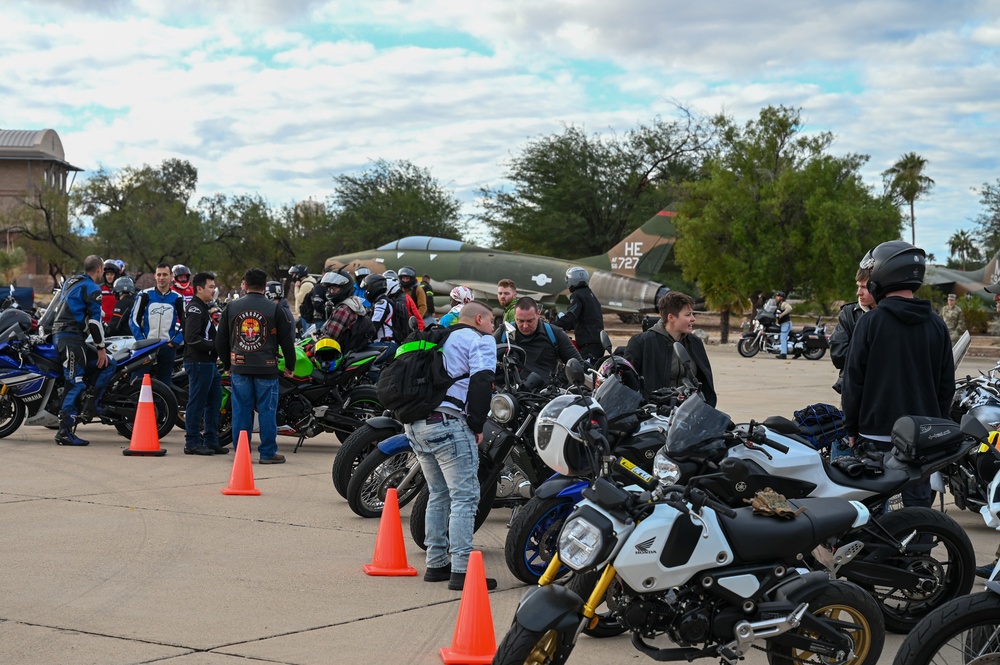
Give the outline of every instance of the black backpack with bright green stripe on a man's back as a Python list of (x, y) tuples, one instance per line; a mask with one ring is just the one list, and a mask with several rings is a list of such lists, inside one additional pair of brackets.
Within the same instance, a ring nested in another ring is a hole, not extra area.
[(403, 423), (426, 418), (444, 401), (459, 409), (465, 404), (447, 397), (448, 388), (469, 375), (452, 377), (444, 364), (444, 342), (452, 328), (432, 327), (411, 334), (382, 367), (378, 401)]

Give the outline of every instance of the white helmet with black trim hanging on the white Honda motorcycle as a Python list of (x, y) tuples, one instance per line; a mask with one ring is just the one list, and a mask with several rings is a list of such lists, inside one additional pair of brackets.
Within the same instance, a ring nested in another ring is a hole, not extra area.
[(593, 476), (599, 453), (584, 443), (582, 431), (596, 422), (607, 433), (604, 409), (592, 397), (560, 395), (545, 405), (535, 421), (538, 456), (564, 476)]

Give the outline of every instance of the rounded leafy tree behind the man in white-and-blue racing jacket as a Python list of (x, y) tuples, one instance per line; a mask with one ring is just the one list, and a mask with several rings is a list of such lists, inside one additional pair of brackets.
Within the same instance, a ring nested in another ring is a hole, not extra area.
[(99, 170), (74, 190), (72, 205), (93, 220), (97, 251), (121, 258), (137, 273), (158, 263), (192, 264), (207, 238), (189, 201), (198, 184), (190, 162)]

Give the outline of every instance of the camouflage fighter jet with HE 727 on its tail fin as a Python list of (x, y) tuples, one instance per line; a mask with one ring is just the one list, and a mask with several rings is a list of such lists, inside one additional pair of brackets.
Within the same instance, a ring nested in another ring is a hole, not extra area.
[(438, 294), (463, 285), (475, 292), (477, 300), (493, 302), (497, 282), (512, 279), (519, 296), (531, 296), (545, 307), (555, 307), (560, 296), (565, 300), (569, 295), (566, 270), (582, 266), (590, 272), (590, 288), (605, 311), (627, 318), (656, 311), (657, 300), (669, 290), (648, 278), (659, 271), (673, 249), (677, 236), (674, 216), (676, 213), (663, 210), (607, 254), (581, 259), (554, 259), (447, 238), (409, 236), (377, 249), (330, 257), (324, 269), (346, 268), (353, 273), (364, 266), (372, 272), (384, 272), (411, 266), (418, 275), (431, 276), (431, 287)]

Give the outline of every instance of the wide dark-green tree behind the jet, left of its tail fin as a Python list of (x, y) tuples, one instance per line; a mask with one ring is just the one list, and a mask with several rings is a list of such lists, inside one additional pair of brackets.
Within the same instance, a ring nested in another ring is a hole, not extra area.
[(507, 166), (510, 189), (481, 190), (495, 246), (563, 257), (613, 247), (674, 200), (707, 152), (711, 124), (683, 108), (678, 115), (621, 137), (566, 127), (529, 141)]

